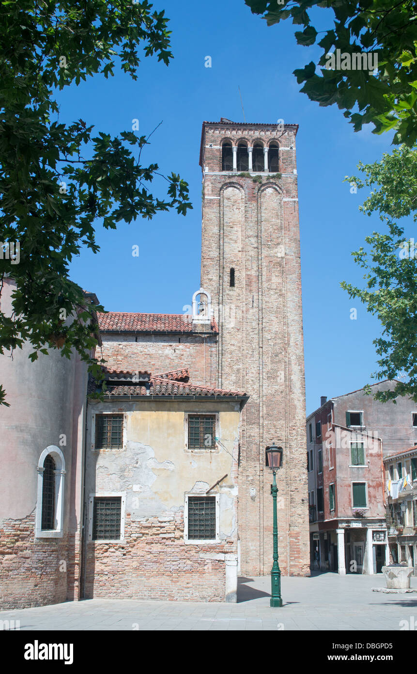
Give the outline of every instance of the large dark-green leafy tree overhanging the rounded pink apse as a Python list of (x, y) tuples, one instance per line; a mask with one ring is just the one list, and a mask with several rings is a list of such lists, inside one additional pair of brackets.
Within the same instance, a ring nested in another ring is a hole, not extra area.
[[(164, 199), (150, 192), (158, 164), (140, 163), (148, 138), (94, 135), (82, 119), (62, 123), (56, 100), (57, 90), (95, 73), (108, 78), (116, 65), (136, 80), (143, 54), (168, 65), (167, 22), (146, 0), (1, 1), (0, 292), (9, 274), (17, 289), (12, 315), (0, 311), (0, 353), (25, 340), (32, 360), (46, 347), (65, 357), (75, 348), (98, 376), (90, 358), (94, 311), (69, 279), (71, 259), (82, 246), (98, 251), (97, 224), (116, 228), (120, 220), (191, 208), (188, 185), (174, 173)], [(6, 254), (17, 243), (18, 264)]]

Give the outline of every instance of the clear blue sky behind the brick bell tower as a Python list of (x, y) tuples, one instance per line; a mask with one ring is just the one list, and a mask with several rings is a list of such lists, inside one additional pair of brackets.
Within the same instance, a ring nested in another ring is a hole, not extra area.
[[(365, 191), (350, 193), (346, 175), (356, 164), (391, 151), (391, 136), (370, 129), (354, 133), (337, 107), (320, 108), (305, 94), (292, 71), (317, 61), (321, 50), (300, 47), (289, 21), (267, 27), (243, 0), (170, 0), (165, 8), (172, 30), (174, 59), (169, 67), (144, 58), (133, 82), (115, 69), (59, 94), (61, 121), (81, 117), (96, 131), (116, 135), (131, 130), (147, 135), (162, 121), (143, 162), (157, 162), (189, 183), (193, 210), (153, 220), (119, 223), (117, 231), (98, 226), (100, 253), (83, 251), (71, 264), (71, 278), (92, 290), (107, 310), (182, 313), (199, 287), (201, 255), (201, 169), (199, 143), (203, 120), (243, 121), (238, 86), (249, 122), (284, 119), (298, 123), (296, 139), (303, 284), (307, 412), (321, 395), (361, 388), (376, 369), (373, 339), (379, 324), (360, 303), (349, 299), (341, 280), (360, 284), (362, 272), (351, 251), (380, 228), (378, 218), (358, 212)], [(318, 10), (320, 11), (320, 10)], [(319, 21), (323, 12), (319, 13)], [(323, 24), (324, 26), (324, 24)], [(205, 56), (212, 67), (204, 66)], [(165, 195), (164, 183), (154, 193)], [(139, 257), (132, 257), (139, 245)], [(357, 319), (350, 319), (350, 309)]]

